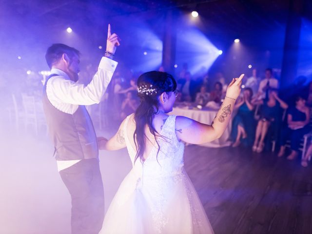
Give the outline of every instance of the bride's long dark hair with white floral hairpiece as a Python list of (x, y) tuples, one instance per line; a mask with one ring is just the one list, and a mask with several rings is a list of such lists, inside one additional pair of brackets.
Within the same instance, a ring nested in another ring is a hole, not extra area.
[(152, 122), (154, 115), (159, 110), (159, 98), (160, 95), (166, 92), (171, 95), (170, 92), (176, 90), (176, 80), (172, 75), (166, 72), (151, 71), (142, 74), (137, 79), (138, 97), (140, 98), (140, 105), (135, 112), (136, 130), (133, 134), (134, 142), (137, 148), (137, 158), (143, 162), (143, 155), (145, 151), (145, 142), (148, 139), (144, 129), (147, 125), (151, 134), (154, 135), (156, 143), (159, 144), (156, 136), (160, 136), (156, 129), (153, 127)]

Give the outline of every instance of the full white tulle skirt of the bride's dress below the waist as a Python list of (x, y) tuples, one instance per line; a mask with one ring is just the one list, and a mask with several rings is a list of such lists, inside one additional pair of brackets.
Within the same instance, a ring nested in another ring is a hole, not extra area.
[(122, 181), (100, 234), (213, 234), (185, 171), (141, 181), (132, 170)]

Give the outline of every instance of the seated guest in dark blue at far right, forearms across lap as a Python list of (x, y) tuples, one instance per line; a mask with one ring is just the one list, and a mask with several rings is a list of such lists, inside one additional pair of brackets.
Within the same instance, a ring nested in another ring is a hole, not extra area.
[(311, 131), (308, 126), (310, 121), (309, 108), (306, 106), (306, 100), (300, 96), (295, 98), (295, 106), (290, 108), (287, 114), (288, 127), (282, 129), (281, 148), (278, 152), (279, 157), (285, 154), (285, 144), (287, 139), (291, 139), (292, 153), (287, 157), (293, 160), (298, 155), (300, 139)]

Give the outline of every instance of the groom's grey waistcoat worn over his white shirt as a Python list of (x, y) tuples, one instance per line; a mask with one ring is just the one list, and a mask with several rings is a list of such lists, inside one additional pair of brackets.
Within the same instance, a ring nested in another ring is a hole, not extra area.
[[(49, 78), (57, 76), (52, 74)], [(79, 105), (71, 115), (59, 111), (49, 101), (45, 82), (43, 88), (43, 110), (47, 120), (49, 135), (55, 147), (57, 160), (98, 158), (97, 136), (85, 106)]]

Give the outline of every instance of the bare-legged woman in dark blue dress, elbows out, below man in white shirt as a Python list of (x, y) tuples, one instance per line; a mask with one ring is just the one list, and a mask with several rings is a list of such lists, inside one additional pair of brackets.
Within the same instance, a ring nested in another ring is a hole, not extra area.
[(254, 102), (255, 105), (261, 105), (260, 119), (257, 123), (253, 145), (253, 151), (258, 153), (263, 151), (264, 139), (270, 125), (277, 121), (276, 118), (279, 117), (280, 107), (284, 110), (288, 108), (288, 105), (277, 96), (276, 89), (269, 89), (268, 96), (268, 99), (262, 99)]

